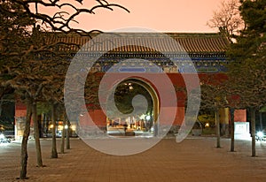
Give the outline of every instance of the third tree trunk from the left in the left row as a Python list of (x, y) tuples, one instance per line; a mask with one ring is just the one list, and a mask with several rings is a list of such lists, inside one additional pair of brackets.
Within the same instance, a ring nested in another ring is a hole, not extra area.
[(51, 106), (51, 158), (58, 158), (58, 151), (57, 151), (57, 138), (56, 138), (56, 117), (55, 117), (55, 104), (52, 103)]

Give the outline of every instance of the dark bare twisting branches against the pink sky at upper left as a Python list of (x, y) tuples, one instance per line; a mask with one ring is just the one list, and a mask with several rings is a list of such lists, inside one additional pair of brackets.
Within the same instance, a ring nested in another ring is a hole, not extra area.
[[(69, 34), (72, 32), (76, 32), (81, 35), (89, 35), (90, 32), (86, 32), (82, 29), (73, 28), (69, 24), (71, 22), (78, 23), (75, 18), (79, 16), (81, 13), (88, 13), (88, 14), (95, 14), (95, 11), (98, 9), (107, 9), (110, 11), (113, 11), (113, 8), (121, 8), (124, 11), (129, 10), (125, 7), (123, 7), (120, 4), (109, 4), (106, 0), (96, 0), (98, 3), (97, 5), (94, 5), (91, 8), (83, 7), (82, 0), (75, 0), (78, 4), (82, 6), (82, 8), (75, 7), (73, 4), (70, 3), (62, 3), (60, 4), (59, 0), (50, 0), (49, 2), (44, 2), (43, 0), (13, 0), (14, 3), (22, 5), (24, 8), (25, 13), (36, 21), (41, 21), (42, 24), (45, 24), (46, 27), (51, 27), (53, 31), (60, 31), (65, 34)], [(56, 7), (59, 11), (55, 12), (52, 16), (48, 14), (43, 14), (38, 11), (33, 11), (30, 7), (31, 4), (36, 4), (36, 7), (38, 4), (44, 6), (44, 7)], [(67, 11), (61, 11), (63, 7), (71, 8), (73, 13), (69, 13)], [(68, 16), (67, 18), (64, 17), (64, 15)]]

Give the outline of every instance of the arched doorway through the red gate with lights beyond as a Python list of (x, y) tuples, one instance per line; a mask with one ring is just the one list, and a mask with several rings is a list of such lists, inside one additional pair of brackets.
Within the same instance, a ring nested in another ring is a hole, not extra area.
[(156, 90), (148, 81), (141, 78), (122, 80), (115, 88), (114, 103), (117, 110), (107, 109), (109, 135), (157, 135), (160, 102)]

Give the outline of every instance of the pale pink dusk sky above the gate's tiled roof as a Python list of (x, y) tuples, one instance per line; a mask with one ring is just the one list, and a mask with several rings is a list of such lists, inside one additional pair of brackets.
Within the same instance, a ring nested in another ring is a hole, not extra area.
[[(113, 11), (98, 9), (96, 14), (82, 14), (73, 24), (90, 31), (99, 29), (113, 31), (121, 28), (141, 27), (160, 32), (216, 32), (207, 27), (207, 20), (219, 8), (222, 0), (107, 0), (121, 4), (130, 12), (120, 8)], [(93, 0), (83, 0), (91, 7)]]

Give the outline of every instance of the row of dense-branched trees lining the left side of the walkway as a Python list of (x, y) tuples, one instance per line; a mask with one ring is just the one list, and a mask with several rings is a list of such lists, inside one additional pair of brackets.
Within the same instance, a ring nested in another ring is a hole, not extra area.
[[(42, 11), (53, 8), (53, 14)], [(52, 148), (51, 158), (58, 157), (56, 148), (56, 108), (64, 100), (64, 80), (69, 63), (69, 53), (60, 51), (62, 47), (77, 46), (66, 42), (47, 42), (56, 34), (82, 34), (93, 32), (71, 27), (81, 13), (94, 14), (104, 8), (125, 9), (120, 4), (109, 4), (106, 0), (96, 0), (93, 7), (84, 7), (82, 0), (0, 0), (0, 95), (14, 94), (16, 100), (27, 106), (25, 129), (21, 143), (20, 178), (27, 178), (27, 140), (30, 122), (34, 123), (37, 166), (43, 166), (37, 103), (51, 105)], [(70, 9), (71, 11), (65, 11)], [(41, 11), (40, 11), (41, 10)], [(66, 124), (66, 114), (64, 123)], [(64, 132), (61, 152), (64, 152)]]

